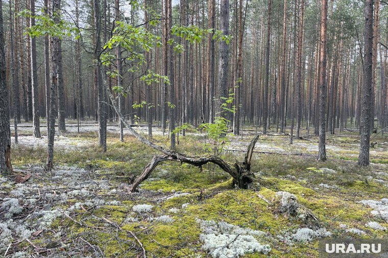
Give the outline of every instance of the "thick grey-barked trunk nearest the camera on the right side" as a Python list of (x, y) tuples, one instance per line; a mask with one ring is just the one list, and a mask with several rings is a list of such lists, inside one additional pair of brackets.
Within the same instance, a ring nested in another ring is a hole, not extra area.
[(361, 127), (360, 127), (360, 153), (358, 155), (358, 165), (369, 165), (369, 141), (371, 136), (372, 119), (372, 53), (373, 53), (373, 1), (367, 0), (365, 3), (365, 49), (363, 59), (363, 87), (361, 103)]

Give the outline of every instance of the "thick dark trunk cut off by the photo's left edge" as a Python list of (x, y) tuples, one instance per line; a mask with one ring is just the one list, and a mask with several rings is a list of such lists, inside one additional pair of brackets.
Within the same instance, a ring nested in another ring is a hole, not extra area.
[(0, 173), (12, 171), (6, 56), (4, 52), (3, 1), (0, 1)]

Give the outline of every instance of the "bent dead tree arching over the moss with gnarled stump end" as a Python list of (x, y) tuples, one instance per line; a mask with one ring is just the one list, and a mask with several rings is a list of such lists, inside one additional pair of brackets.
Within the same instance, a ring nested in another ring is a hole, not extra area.
[(124, 125), (132, 132), (132, 134), (138, 138), (143, 144), (146, 144), (155, 150), (163, 153), (164, 155), (156, 155), (152, 158), (151, 162), (144, 168), (143, 173), (137, 177), (130, 186), (130, 191), (136, 191), (137, 186), (146, 180), (155, 169), (155, 167), (162, 161), (178, 161), (181, 163), (187, 163), (190, 165), (202, 167), (207, 163), (213, 163), (218, 165), (226, 173), (232, 176), (233, 184), (239, 188), (249, 189), (251, 183), (255, 179), (255, 175), (251, 172), (251, 158), (253, 154), (253, 149), (255, 148), (256, 142), (259, 138), (259, 135), (256, 135), (250, 142), (248, 146), (247, 153), (245, 155), (244, 161), (235, 163), (230, 163), (224, 159), (215, 156), (215, 155), (202, 155), (202, 156), (189, 156), (183, 153), (169, 150), (163, 148), (162, 146), (154, 144), (154, 142), (148, 140), (146, 137), (143, 137), (138, 132), (136, 132), (124, 119), (123, 115), (120, 113), (116, 100), (114, 99), (112, 93), (107, 89), (107, 94), (112, 102), (112, 105), (117, 113), (117, 116), (123, 121)]

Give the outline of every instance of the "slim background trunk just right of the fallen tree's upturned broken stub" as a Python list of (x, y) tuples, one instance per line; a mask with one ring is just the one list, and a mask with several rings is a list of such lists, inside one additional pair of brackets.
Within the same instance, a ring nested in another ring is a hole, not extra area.
[(266, 33), (265, 48), (265, 79), (264, 79), (264, 96), (263, 96), (263, 134), (267, 133), (268, 125), (268, 84), (270, 73), (270, 50), (271, 50), (271, 0), (268, 1), (268, 26)]

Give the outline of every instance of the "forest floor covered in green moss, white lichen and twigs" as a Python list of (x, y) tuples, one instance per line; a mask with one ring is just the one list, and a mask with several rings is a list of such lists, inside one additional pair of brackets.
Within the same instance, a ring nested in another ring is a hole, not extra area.
[[(316, 161), (318, 138), (307, 131), (293, 145), (270, 132), (256, 144), (254, 189), (235, 189), (213, 165), (164, 162), (129, 193), (131, 176), (159, 153), (129, 133), (120, 142), (114, 123), (104, 153), (95, 123), (83, 122), (80, 133), (67, 123), (55, 137), (50, 173), (45, 122), (40, 139), (31, 124), (19, 124), (11, 153), (17, 175), (0, 175), (0, 256), (318, 257), (321, 238), (388, 237), (388, 135), (372, 135), (372, 164), (361, 168), (357, 131), (328, 134), (326, 162)], [(242, 139), (229, 136), (223, 158), (242, 159), (255, 134), (245, 130)], [(168, 145), (159, 128), (153, 133)], [(212, 148), (205, 134), (179, 140), (178, 151), (192, 155)]]

